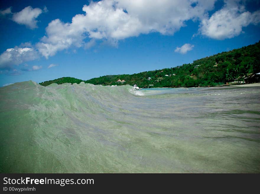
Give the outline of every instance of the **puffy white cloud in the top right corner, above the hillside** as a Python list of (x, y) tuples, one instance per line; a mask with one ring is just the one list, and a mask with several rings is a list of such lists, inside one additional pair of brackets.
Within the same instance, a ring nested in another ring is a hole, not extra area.
[(243, 27), (249, 24), (256, 25), (259, 22), (259, 10), (251, 13), (246, 11), (239, 1), (226, 0), (222, 9), (212, 14), (210, 18), (202, 20), (199, 31), (202, 35), (223, 40), (238, 36)]

